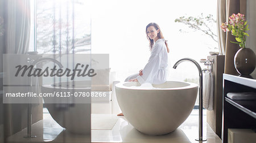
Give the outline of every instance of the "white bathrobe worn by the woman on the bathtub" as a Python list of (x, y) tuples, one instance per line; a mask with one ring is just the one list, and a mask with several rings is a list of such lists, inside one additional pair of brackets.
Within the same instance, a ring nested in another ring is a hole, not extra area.
[(137, 76), (140, 84), (162, 84), (167, 80), (168, 53), (164, 39), (156, 40), (150, 59), (143, 68), (143, 75)]

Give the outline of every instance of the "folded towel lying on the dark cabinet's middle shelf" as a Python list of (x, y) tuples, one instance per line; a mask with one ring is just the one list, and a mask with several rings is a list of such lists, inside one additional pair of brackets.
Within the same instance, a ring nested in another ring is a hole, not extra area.
[(226, 96), (233, 100), (256, 100), (255, 92), (227, 93)]

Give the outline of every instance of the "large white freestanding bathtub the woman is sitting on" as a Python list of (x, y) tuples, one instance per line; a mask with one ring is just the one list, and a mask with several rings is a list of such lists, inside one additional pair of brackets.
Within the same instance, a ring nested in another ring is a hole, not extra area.
[(138, 82), (115, 85), (118, 104), (125, 118), (147, 135), (174, 131), (188, 118), (196, 102), (198, 85), (166, 81), (156, 89), (136, 87)]

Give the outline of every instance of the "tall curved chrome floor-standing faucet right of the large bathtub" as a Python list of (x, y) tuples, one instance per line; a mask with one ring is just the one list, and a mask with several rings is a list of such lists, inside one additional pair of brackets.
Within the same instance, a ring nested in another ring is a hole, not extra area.
[(196, 62), (196, 60), (193, 60), (191, 58), (183, 58), (178, 60), (174, 64), (174, 69), (176, 69), (176, 67), (184, 61), (189, 61), (194, 63), (199, 71), (199, 83), (200, 83), (199, 85), (199, 138), (196, 140), (206, 141), (206, 139), (203, 138), (203, 72), (200, 65)]

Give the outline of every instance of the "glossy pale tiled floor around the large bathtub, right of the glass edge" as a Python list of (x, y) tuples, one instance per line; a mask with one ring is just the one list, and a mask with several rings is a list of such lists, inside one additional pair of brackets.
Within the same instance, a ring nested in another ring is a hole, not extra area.
[[(137, 131), (125, 117), (118, 117), (117, 123), (112, 130), (92, 130), (92, 142), (198, 142), (198, 110), (193, 110), (188, 119), (180, 125), (174, 132), (163, 136), (148, 136)], [(92, 114), (93, 116), (93, 114)], [(111, 114), (101, 114), (104, 116), (113, 116)], [(204, 121), (206, 116), (204, 115)], [(207, 138), (204, 142), (221, 142), (221, 139), (212, 131), (209, 125), (204, 122), (203, 135)]]

